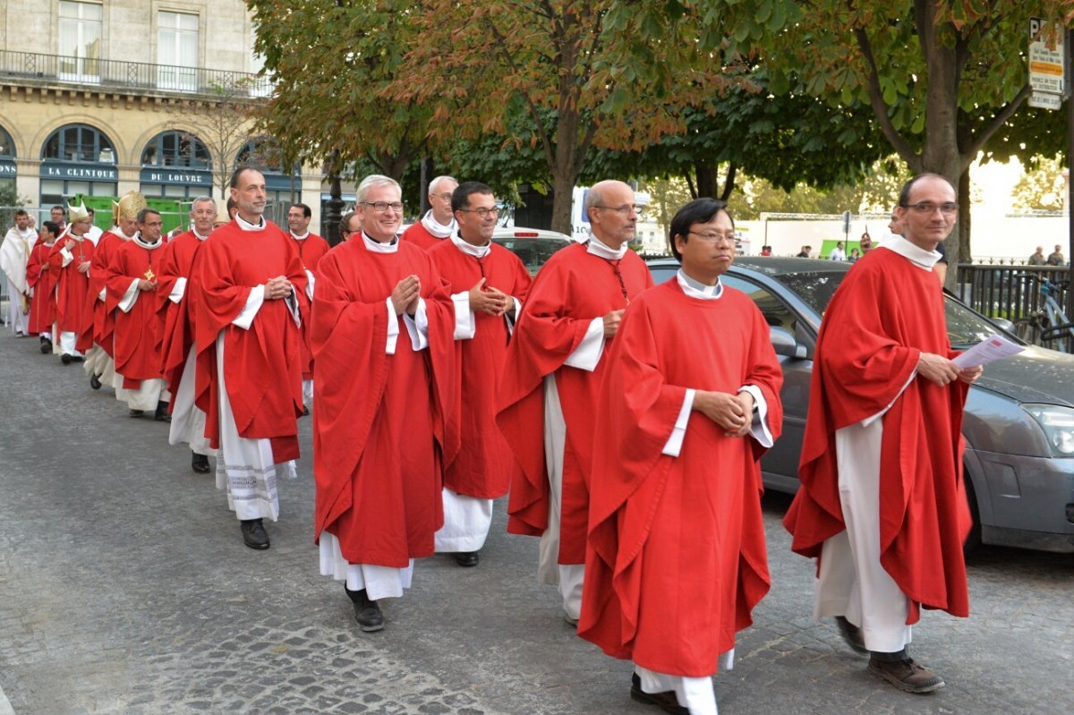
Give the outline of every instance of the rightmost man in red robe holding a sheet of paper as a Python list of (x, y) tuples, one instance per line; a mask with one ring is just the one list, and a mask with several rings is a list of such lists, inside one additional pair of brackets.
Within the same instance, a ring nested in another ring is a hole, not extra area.
[(919, 175), (895, 218), (904, 235), (863, 256), (825, 311), (784, 524), (795, 552), (819, 558), (814, 616), (834, 616), (871, 672), (931, 692), (943, 680), (906, 646), (921, 608), (969, 615), (960, 428), (982, 368), (953, 362), (931, 271), (958, 218), (955, 188)]

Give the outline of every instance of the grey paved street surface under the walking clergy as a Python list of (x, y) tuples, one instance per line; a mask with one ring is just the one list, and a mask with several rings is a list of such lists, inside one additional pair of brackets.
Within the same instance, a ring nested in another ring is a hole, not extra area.
[[(384, 602), (387, 628), (362, 633), (318, 574), (308, 419), (272, 549), (255, 552), (166, 425), (128, 418), (79, 365), (4, 333), (0, 389), (0, 687), (17, 715), (658, 712), (629, 699), (628, 663), (564, 623), (502, 501), (479, 567), (420, 561)], [(947, 687), (911, 696), (810, 617), (787, 504), (765, 499), (774, 583), (716, 676), (724, 715), (1074, 712), (1074, 557), (976, 554), (973, 616), (928, 612), (915, 628)]]

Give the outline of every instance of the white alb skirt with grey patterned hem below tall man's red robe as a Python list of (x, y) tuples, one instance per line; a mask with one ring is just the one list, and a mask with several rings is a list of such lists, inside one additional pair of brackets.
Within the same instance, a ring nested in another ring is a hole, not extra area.
[(273, 462), (267, 439), (247, 439), (238, 435), (235, 415), (223, 381), (223, 332), (216, 338), (216, 377), (220, 389), (220, 453), (216, 461), (216, 486), (228, 491), (228, 508), (240, 521), (279, 519), (276, 494), (277, 467), (294, 479), (294, 462)]

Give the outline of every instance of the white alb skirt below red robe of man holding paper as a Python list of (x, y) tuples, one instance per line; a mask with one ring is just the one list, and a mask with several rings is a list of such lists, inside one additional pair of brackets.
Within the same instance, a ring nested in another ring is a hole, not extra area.
[(839, 497), (846, 530), (824, 542), (813, 615), (845, 616), (866, 647), (897, 653), (911, 642), (910, 601), (880, 563), (880, 450), (883, 420), (836, 431)]

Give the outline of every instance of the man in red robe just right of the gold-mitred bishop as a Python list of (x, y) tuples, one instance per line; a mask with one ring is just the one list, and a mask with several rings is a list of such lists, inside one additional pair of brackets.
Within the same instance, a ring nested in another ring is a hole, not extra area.
[(104, 308), (115, 313), (116, 399), (127, 403), (131, 417), (154, 410), (157, 421), (166, 422), (170, 396), (160, 377), (162, 326), (156, 302), (163, 221), (160, 211), (148, 207), (135, 220), (137, 235), (116, 246), (104, 277)]

